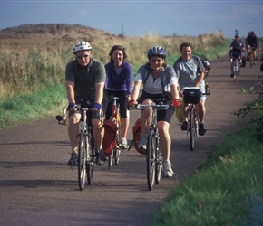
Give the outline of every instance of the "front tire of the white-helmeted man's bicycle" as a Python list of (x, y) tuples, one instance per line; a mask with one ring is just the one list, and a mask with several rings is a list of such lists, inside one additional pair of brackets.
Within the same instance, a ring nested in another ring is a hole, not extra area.
[(84, 131), (81, 130), (78, 144), (78, 181), (81, 191), (84, 189), (87, 177), (87, 144), (88, 139), (84, 134)]

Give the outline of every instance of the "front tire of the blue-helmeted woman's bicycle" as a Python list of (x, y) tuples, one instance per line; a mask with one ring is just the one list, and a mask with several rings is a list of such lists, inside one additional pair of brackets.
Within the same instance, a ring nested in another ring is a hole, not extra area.
[(155, 182), (155, 160), (156, 155), (156, 141), (155, 131), (150, 129), (147, 139), (147, 152), (146, 152), (146, 168), (147, 168), (147, 184), (148, 189), (151, 191)]

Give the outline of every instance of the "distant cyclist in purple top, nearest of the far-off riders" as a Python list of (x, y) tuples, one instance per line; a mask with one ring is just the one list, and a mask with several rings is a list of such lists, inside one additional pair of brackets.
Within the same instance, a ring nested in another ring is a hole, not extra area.
[[(244, 42), (242, 42), (240, 40), (240, 35), (239, 33), (237, 33), (235, 35), (235, 40), (233, 42), (231, 42), (230, 44), (230, 51), (229, 51), (229, 55), (230, 55), (230, 70), (231, 70), (231, 74), (230, 77), (233, 78), (234, 77), (234, 59), (238, 58), (239, 59), (239, 67), (241, 65), (241, 59), (243, 57), (243, 52), (245, 50), (245, 44)], [(239, 71), (240, 72), (240, 71)]]

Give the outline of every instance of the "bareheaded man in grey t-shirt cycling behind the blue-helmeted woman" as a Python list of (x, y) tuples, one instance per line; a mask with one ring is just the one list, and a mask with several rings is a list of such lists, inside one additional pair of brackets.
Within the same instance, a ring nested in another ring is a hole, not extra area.
[[(180, 95), (183, 94), (185, 87), (200, 87), (200, 91), (205, 93), (205, 82), (204, 82), (204, 66), (200, 58), (196, 55), (191, 54), (191, 45), (188, 42), (182, 43), (180, 45), (180, 58), (177, 59), (173, 68), (177, 74), (179, 85), (180, 85)], [(204, 118), (206, 113), (205, 108), (206, 95), (200, 95), (199, 106), (199, 135), (202, 136), (206, 133), (204, 128)], [(180, 127), (181, 130), (187, 130), (187, 119), (188, 119), (188, 105), (182, 102), (182, 115), (183, 123)]]

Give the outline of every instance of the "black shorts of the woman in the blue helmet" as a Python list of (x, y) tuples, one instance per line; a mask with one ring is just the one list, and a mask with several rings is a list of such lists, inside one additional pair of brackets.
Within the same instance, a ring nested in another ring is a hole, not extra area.
[[(159, 104), (170, 104), (172, 100), (171, 93), (165, 92), (161, 94), (151, 94), (145, 91), (142, 91), (141, 97), (138, 99), (138, 103), (142, 103), (145, 99), (151, 99), (154, 103)], [(157, 111), (157, 121), (165, 121), (170, 123), (171, 117), (174, 113), (174, 108), (168, 108), (167, 110), (158, 110)]]

